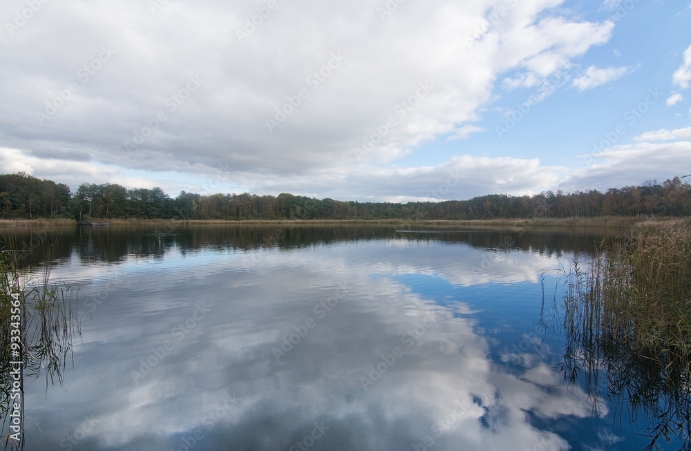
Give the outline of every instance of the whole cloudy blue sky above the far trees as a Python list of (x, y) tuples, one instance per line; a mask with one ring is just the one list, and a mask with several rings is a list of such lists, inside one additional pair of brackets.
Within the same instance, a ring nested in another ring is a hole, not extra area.
[(73, 191), (408, 202), (691, 174), (689, 0), (5, 0), (0, 19), (0, 173)]

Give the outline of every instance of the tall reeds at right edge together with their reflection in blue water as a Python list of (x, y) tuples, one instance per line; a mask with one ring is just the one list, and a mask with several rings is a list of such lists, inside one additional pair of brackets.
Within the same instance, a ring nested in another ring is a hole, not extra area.
[(562, 370), (587, 383), (594, 405), (606, 390), (647, 436), (691, 449), (691, 221), (637, 227), (634, 238), (576, 265), (565, 296)]

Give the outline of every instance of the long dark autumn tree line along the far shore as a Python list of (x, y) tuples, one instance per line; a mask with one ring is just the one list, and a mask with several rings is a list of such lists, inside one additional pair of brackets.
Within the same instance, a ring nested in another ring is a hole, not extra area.
[(182, 220), (490, 220), (593, 218), (603, 215), (691, 215), (691, 184), (679, 177), (662, 184), (536, 195), (483, 195), (443, 202), (357, 202), (283, 193), (201, 195), (181, 191), (171, 198), (160, 188), (126, 189), (119, 184), (66, 184), (26, 173), (0, 175), (0, 218), (108, 218)]

